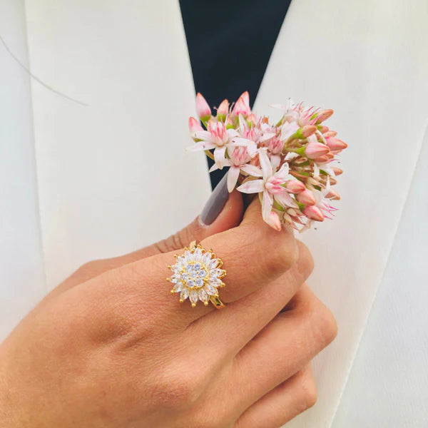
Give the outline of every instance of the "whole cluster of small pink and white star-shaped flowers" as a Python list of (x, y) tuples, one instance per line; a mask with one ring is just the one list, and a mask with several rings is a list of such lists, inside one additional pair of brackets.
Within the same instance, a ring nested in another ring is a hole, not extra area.
[(347, 144), (324, 125), (332, 110), (291, 102), (272, 107), (283, 113), (275, 125), (251, 111), (244, 92), (234, 105), (220, 103), (213, 116), (198, 93), (196, 112), (205, 129), (189, 118), (195, 144), (188, 150), (205, 151), (215, 162), (210, 172), (229, 167), (229, 192), (258, 193), (263, 220), (272, 228), (290, 224), (303, 231), (336, 210), (330, 201), (340, 196), (332, 185), (342, 170), (332, 163)]

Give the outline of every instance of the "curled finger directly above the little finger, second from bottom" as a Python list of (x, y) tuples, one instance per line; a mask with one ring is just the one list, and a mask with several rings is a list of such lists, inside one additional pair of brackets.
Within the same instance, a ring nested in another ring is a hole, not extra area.
[(242, 409), (301, 370), (337, 334), (332, 313), (307, 285), (293, 300), (294, 309), (280, 312), (235, 357), (229, 399)]

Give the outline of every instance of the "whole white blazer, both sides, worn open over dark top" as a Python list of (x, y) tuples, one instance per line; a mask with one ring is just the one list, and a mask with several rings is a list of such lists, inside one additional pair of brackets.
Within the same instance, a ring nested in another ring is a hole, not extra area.
[[(88, 104), (30, 80), (0, 46), (4, 337), (81, 263), (188, 223), (209, 184), (185, 153), (194, 91), (178, 2), (7, 0), (0, 24), (37, 77)], [(301, 235), (339, 335), (314, 362), (317, 404), (287, 427), (426, 427), (426, 0), (294, 0), (255, 110), (288, 97), (334, 108), (349, 148), (335, 220)]]

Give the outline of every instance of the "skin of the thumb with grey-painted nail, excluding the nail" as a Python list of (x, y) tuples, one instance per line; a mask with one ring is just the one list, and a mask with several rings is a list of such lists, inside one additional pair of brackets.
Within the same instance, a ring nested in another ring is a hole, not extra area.
[(198, 216), (192, 223), (190, 223), (190, 225), (186, 226), (178, 233), (175, 233), (175, 235), (171, 235), (169, 238), (161, 240), (146, 248), (141, 248), (140, 250), (133, 251), (133, 253), (128, 253), (115, 258), (93, 260), (85, 263), (79, 267), (73, 275), (68, 277), (58, 285), (58, 287), (52, 290), (48, 297), (54, 297), (74, 285), (101, 275), (101, 273), (106, 272), (107, 270), (116, 269), (117, 267), (133, 263), (152, 255), (178, 250), (189, 245), (193, 240), (203, 240), (215, 233), (220, 233), (223, 232), (223, 230), (234, 228), (240, 223), (242, 215), (243, 198), (240, 192), (234, 191), (233, 193), (230, 193), (223, 210), (210, 225), (204, 225), (200, 221), (200, 216)]

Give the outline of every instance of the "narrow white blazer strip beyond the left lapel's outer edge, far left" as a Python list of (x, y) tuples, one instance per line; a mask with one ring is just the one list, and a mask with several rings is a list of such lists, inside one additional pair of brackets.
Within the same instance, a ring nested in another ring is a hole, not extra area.
[[(0, 35), (26, 63), (24, 5), (0, 1)], [(0, 45), (0, 341), (45, 293), (29, 76)]]

